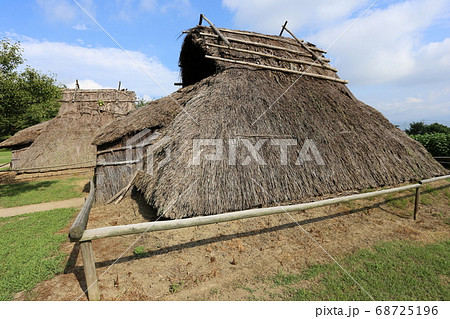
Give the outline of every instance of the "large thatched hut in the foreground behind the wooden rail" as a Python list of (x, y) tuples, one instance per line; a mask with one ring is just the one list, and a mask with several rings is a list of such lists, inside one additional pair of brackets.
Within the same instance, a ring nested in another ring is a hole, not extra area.
[[(207, 27), (188, 32), (182, 89), (95, 139), (98, 200), (109, 199), (137, 169), (135, 186), (168, 218), (445, 174), (423, 146), (357, 100), (314, 45), (219, 30), (221, 36)], [(127, 178), (115, 190), (105, 187), (119, 175)]]

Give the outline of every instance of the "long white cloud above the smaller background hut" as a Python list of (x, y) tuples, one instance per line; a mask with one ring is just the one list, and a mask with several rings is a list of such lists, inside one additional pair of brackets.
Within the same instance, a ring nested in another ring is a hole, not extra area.
[(178, 81), (178, 72), (141, 52), (127, 51), (136, 64), (116, 48), (86, 48), (36, 40), (22, 41), (21, 45), (28, 64), (44, 73), (59, 74), (58, 81), (68, 86), (72, 86), (75, 79), (82, 79), (82, 87), (116, 88), (121, 81), (123, 88), (153, 97), (165, 96), (176, 89), (173, 83)]

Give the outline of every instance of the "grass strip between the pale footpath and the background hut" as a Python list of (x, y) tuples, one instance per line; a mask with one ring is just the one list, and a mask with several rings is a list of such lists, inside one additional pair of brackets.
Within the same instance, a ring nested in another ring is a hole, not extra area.
[(53, 202), (82, 197), (83, 193), (76, 182), (84, 178), (67, 178), (60, 180), (34, 181), (0, 185), (0, 207)]

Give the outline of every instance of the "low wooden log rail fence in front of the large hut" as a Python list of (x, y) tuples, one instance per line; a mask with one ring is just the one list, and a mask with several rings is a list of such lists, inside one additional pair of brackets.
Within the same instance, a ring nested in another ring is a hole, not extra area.
[(94, 184), (91, 181), (91, 189), (89, 192), (89, 196), (81, 209), (80, 213), (76, 217), (72, 227), (69, 231), (69, 238), (71, 241), (77, 241), (80, 243), (80, 249), (83, 259), (83, 268), (84, 274), (86, 278), (86, 285), (88, 287), (88, 297), (89, 300), (100, 300), (100, 289), (98, 286), (97, 274), (95, 269), (95, 258), (94, 258), (94, 250), (92, 248), (92, 240), (107, 238), (107, 237), (115, 237), (115, 236), (123, 236), (123, 235), (131, 235), (131, 234), (142, 234), (153, 231), (160, 230), (170, 230), (170, 229), (179, 229), (200, 225), (208, 225), (208, 224), (216, 224), (222, 222), (228, 222), (232, 220), (245, 219), (245, 218), (253, 218), (260, 216), (267, 216), (273, 214), (287, 213), (287, 212), (296, 212), (303, 211), (310, 208), (328, 206), (333, 204), (350, 202), (358, 199), (371, 198), (382, 196), (391, 193), (403, 192), (406, 190), (416, 190), (415, 194), (415, 205), (414, 205), (414, 220), (417, 219), (419, 212), (419, 201), (420, 201), (420, 188), (422, 185), (436, 182), (439, 180), (444, 180), (450, 178), (450, 175), (430, 178), (422, 180), (416, 184), (384, 189), (369, 193), (361, 193), (350, 196), (343, 196), (337, 198), (330, 198), (325, 200), (320, 200), (311, 203), (302, 203), (302, 204), (294, 204), (294, 205), (286, 205), (286, 206), (277, 206), (277, 207), (267, 207), (267, 208), (256, 208), (256, 209), (248, 209), (230, 213), (223, 213), (218, 215), (210, 215), (210, 216), (200, 216), (200, 217), (192, 217), (187, 219), (178, 219), (178, 220), (169, 220), (169, 221), (155, 221), (155, 222), (147, 222), (140, 224), (131, 224), (131, 225), (121, 225), (121, 226), (110, 226), (110, 227), (101, 227), (94, 229), (87, 229), (86, 225), (89, 219), (89, 212), (92, 207), (92, 203), (94, 201)]

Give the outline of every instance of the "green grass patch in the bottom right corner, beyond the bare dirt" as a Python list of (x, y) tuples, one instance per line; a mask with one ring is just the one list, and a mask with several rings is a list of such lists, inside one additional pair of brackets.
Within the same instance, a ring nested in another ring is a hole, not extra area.
[[(386, 242), (340, 260), (376, 300), (449, 300), (450, 241)], [(272, 278), (285, 300), (370, 300), (335, 263)]]

